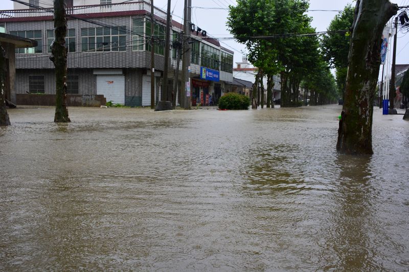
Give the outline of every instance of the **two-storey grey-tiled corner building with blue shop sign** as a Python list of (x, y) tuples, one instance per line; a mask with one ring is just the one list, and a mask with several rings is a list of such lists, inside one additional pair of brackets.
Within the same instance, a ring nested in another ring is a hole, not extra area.
[[(54, 65), (49, 59), (54, 22), (53, 11), (47, 6), (52, 1), (26, 2), (31, 6), (0, 13), (0, 31), (38, 43), (36, 47), (16, 50), (16, 92), (55, 94)], [(46, 9), (39, 9), (39, 4)], [(115, 0), (74, 0), (67, 4), (67, 94), (102, 94), (113, 104), (149, 106), (150, 4)], [(16, 3), (15, 8), (21, 8), (20, 5)], [(154, 19), (153, 84), (157, 103), (161, 99), (163, 84), (166, 13), (154, 8)], [(176, 39), (181, 29), (181, 24), (173, 20), (172, 39)], [(199, 32), (192, 33), (189, 43), (192, 47), (192, 104), (202, 102), (206, 105), (206, 97), (208, 104), (212, 98), (213, 102), (217, 101), (225, 84), (233, 81), (233, 52)], [(171, 81), (176, 67), (176, 54), (172, 51), (169, 62)], [(215, 71), (218, 77), (201, 77), (203, 68)], [(179, 83), (179, 86), (185, 84)], [(203, 97), (201, 101), (200, 97)]]

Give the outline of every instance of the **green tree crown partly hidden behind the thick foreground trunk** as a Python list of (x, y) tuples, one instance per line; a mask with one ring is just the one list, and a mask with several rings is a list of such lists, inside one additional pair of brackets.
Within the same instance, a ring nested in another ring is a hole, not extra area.
[(336, 84), (344, 96), (347, 81), (348, 53), (350, 46), (350, 28), (354, 21), (354, 8), (347, 5), (343, 11), (335, 15), (327, 31), (321, 39), (324, 59), (336, 69)]

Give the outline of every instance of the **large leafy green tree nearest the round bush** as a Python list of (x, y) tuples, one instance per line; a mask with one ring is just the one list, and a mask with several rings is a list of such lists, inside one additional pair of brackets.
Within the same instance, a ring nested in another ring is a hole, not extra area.
[[(257, 107), (256, 91), (264, 75), (271, 79), (280, 73), (282, 106), (291, 106), (291, 100), (297, 100), (303, 68), (311, 64), (306, 54), (314, 50), (306, 48), (311, 37), (289, 34), (312, 31), (311, 18), (306, 15), (308, 7), (307, 0), (238, 0), (237, 6), (230, 7), (228, 27), (234, 37), (245, 44), (248, 60), (259, 68), (253, 108)], [(267, 84), (267, 101), (271, 98), (271, 86), (271, 82)]]

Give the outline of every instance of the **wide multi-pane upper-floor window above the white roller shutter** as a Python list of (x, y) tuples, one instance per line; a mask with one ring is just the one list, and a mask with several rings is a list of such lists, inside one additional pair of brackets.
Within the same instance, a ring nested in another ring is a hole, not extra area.
[(81, 51), (126, 51), (126, 27), (81, 29)]

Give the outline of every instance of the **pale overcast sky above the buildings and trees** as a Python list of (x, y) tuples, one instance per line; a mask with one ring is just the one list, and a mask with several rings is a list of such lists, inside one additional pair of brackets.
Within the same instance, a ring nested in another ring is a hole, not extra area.
[[(183, 17), (184, 0), (171, 0), (171, 10), (173, 18), (179, 22)], [(392, 0), (393, 3), (399, 6), (409, 5), (409, 0)], [(1, 9), (12, 9), (13, 2), (10, 0), (1, 1)], [(40, 1), (41, 3), (41, 1)], [(352, 0), (310, 0), (310, 10), (342, 10), (344, 7), (352, 3)], [(153, 0), (154, 6), (166, 10), (167, 0)], [(222, 46), (234, 51), (234, 62), (241, 61), (244, 46), (235, 42), (232, 35), (226, 28), (226, 17), (228, 16), (229, 5), (236, 5), (235, 0), (211, 0), (198, 1), (192, 0), (192, 22), (203, 30), (206, 30), (208, 35), (215, 38), (220, 38)], [(354, 5), (354, 4), (352, 4)], [(200, 9), (201, 8), (219, 8), (219, 9)], [(221, 9), (225, 8), (225, 9)], [(309, 15), (313, 18), (312, 26), (317, 32), (326, 31), (330, 21), (337, 14), (334, 11), (311, 11)], [(398, 33), (397, 42), (397, 64), (409, 63), (409, 34)]]

